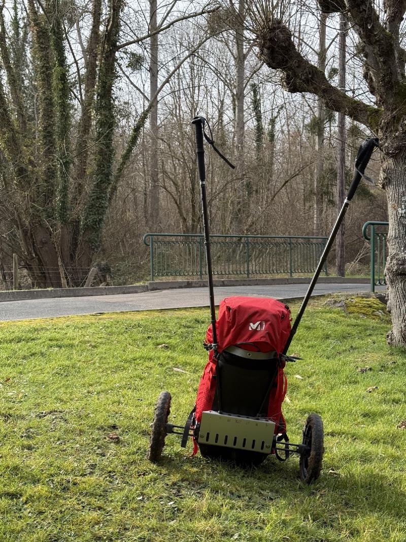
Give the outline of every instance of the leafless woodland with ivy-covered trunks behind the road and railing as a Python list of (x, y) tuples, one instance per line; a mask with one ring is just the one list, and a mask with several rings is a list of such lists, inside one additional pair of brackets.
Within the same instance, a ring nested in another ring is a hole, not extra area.
[[(244, 7), (3, 3), (3, 272), (17, 253), (33, 286), (79, 286), (101, 261), (115, 284), (145, 279), (145, 233), (201, 231), (195, 115), (207, 118), (215, 144), (237, 166), (231, 170), (207, 146), (213, 233), (329, 234), (337, 215), (337, 114), (313, 95), (281, 89), (280, 75), (251, 42)], [(310, 2), (292, 5), (290, 22), (297, 49), (337, 85), (339, 16), (320, 17)], [(346, 34), (345, 91), (368, 103), (357, 40)], [(374, 134), (350, 119), (345, 132), (349, 184), (358, 146)], [(368, 173), (376, 185), (361, 186), (346, 217), (352, 274), (369, 259), (363, 223), (387, 220), (378, 170), (374, 155)]]

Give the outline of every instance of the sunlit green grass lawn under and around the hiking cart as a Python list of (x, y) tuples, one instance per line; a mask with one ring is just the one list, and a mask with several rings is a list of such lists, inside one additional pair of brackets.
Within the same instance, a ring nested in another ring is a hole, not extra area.
[(0, 324), (0, 540), (406, 541), (406, 353), (378, 305), (348, 306), (312, 301), (290, 350), (291, 441), (310, 412), (324, 421), (310, 487), (295, 456), (244, 470), (175, 435), (146, 460), (159, 393), (174, 423), (194, 404), (208, 309)]

